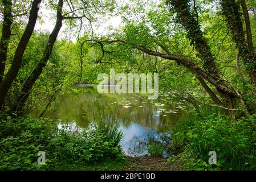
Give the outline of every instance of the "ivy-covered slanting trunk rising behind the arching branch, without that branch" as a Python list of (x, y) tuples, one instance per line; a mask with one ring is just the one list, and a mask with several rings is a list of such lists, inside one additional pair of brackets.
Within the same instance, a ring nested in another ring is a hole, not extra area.
[[(185, 28), (188, 38), (191, 41), (191, 45), (197, 50), (198, 57), (203, 61), (203, 66), (206, 72), (209, 72), (213, 77), (219, 79), (220, 84), (225, 85), (224, 81), (220, 78), (219, 70), (216, 66), (216, 59), (214, 58), (210, 47), (204, 38), (203, 32), (201, 31), (200, 23), (196, 18), (196, 14), (192, 14), (190, 10), (190, 5), (186, 0), (169, 0), (170, 5), (173, 6), (174, 11), (177, 12), (177, 20), (182, 26)], [(195, 5), (194, 5), (195, 6)], [(196, 9), (194, 10), (196, 11)], [(213, 96), (212, 90), (204, 84), (204, 80), (201, 80), (198, 77), (203, 88), (208, 92), (209, 96), (216, 102), (218, 105), (226, 106), (226, 107), (234, 107), (235, 98), (230, 96), (222, 90), (217, 88), (218, 93), (220, 94), (223, 102), (217, 98), (217, 96)]]

